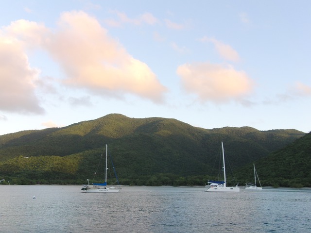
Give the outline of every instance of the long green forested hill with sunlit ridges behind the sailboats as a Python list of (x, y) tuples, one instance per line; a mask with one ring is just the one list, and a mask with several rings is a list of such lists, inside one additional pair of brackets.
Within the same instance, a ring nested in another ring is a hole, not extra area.
[[(121, 184), (204, 184), (215, 175), (212, 166), (222, 141), (236, 171), (304, 135), (251, 127), (208, 130), (175, 119), (110, 114), (63, 128), (0, 136), (0, 179), (84, 183), (93, 177), (108, 144)], [(95, 179), (103, 177), (97, 174)]]

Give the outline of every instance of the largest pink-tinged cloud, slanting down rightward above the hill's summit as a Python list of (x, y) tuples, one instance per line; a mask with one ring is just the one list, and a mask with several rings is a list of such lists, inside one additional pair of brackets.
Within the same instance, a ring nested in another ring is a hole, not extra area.
[(64, 13), (58, 26), (46, 46), (67, 75), (64, 83), (105, 95), (132, 93), (163, 100), (166, 88), (155, 74), (109, 37), (95, 18), (84, 12)]

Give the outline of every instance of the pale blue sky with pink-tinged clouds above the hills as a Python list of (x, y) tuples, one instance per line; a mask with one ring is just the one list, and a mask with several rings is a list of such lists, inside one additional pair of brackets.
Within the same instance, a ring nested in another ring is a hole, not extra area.
[(0, 0), (0, 135), (118, 113), (311, 131), (309, 0)]

